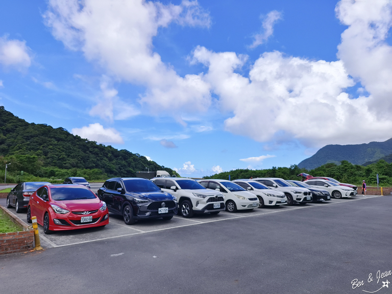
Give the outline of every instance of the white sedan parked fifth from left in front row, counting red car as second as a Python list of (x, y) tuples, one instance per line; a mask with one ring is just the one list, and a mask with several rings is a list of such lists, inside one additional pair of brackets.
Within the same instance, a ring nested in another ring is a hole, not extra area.
[(272, 190), (260, 182), (244, 179), (235, 180), (233, 183), (256, 195), (259, 198), (259, 208), (263, 208), (265, 205), (274, 206), (287, 203), (286, 195), (283, 192)]

